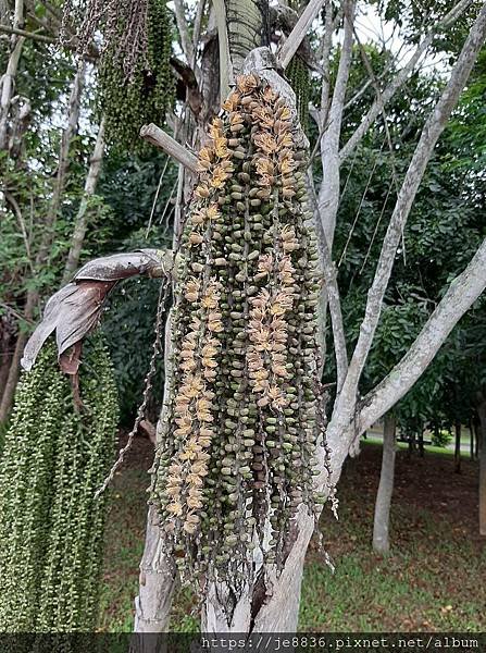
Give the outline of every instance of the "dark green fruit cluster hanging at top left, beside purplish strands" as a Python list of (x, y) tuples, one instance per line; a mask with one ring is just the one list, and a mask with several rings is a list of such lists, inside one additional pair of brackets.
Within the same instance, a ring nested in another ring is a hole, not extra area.
[[(146, 14), (138, 19), (140, 29), (147, 34), (137, 51), (127, 38), (134, 22), (132, 3), (116, 4), (98, 70), (98, 106), (104, 115), (107, 141), (123, 150), (139, 151), (145, 147), (140, 127), (150, 122), (164, 123), (174, 97), (170, 69), (172, 20), (164, 0), (147, 0)], [(127, 70), (128, 58), (133, 61)]]

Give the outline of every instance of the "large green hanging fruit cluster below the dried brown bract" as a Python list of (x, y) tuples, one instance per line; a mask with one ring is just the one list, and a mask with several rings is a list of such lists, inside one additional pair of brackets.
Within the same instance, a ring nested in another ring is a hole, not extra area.
[(117, 397), (108, 352), (86, 345), (80, 410), (53, 344), (21, 381), (0, 460), (0, 631), (92, 631)]

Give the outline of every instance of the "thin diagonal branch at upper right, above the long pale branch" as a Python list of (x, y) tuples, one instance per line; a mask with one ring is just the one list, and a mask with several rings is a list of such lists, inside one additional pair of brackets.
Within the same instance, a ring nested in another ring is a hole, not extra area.
[(376, 100), (373, 102), (370, 110), (361, 121), (359, 127), (342, 147), (342, 149), (339, 152), (340, 162), (342, 162), (349, 157), (349, 155), (353, 151), (353, 149), (363, 138), (364, 134), (367, 132), (373, 122), (376, 120), (377, 115), (381, 113), (382, 107), (389, 102), (394, 95), (397, 93), (397, 90), (399, 90), (403, 86), (422, 54), (424, 54), (426, 49), (434, 41), (437, 33), (440, 32), (440, 29), (443, 29), (444, 27), (448, 27), (454, 21), (457, 21), (471, 3), (472, 0), (461, 0), (453, 9), (451, 9), (451, 11), (446, 16), (444, 16), (441, 21), (432, 26), (431, 32), (418, 45), (410, 60), (401, 69), (401, 71), (392, 78), (390, 84), (382, 91), (382, 97), (376, 98)]

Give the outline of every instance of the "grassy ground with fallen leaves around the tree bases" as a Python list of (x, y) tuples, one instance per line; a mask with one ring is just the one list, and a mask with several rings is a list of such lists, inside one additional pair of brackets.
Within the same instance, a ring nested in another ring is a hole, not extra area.
[[(371, 549), (381, 447), (365, 444), (339, 482), (339, 521), (321, 519), (326, 551), (311, 543), (302, 586), (302, 631), (486, 630), (486, 547), (477, 534), (477, 468), (461, 475), (449, 456), (410, 459), (400, 451), (392, 506), (391, 555)], [(107, 530), (100, 630), (129, 631), (146, 517), (150, 448), (138, 441), (116, 477)], [(172, 630), (197, 630), (198, 606), (179, 590)]]

